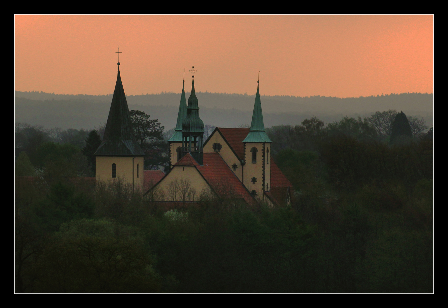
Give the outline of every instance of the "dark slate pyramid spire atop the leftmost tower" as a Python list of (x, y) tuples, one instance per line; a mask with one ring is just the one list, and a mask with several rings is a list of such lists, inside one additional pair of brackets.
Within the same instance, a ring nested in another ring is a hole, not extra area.
[(113, 92), (108, 122), (104, 131), (103, 142), (99, 145), (95, 155), (101, 156), (144, 156), (138, 145), (132, 128), (128, 102), (120, 76), (120, 62)]

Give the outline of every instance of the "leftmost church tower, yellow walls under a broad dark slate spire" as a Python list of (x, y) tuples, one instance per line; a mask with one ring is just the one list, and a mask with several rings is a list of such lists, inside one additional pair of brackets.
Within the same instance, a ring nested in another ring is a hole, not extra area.
[(118, 74), (108, 122), (103, 141), (94, 154), (96, 156), (96, 179), (115, 181), (120, 177), (132, 184), (133, 187), (143, 188), (143, 156), (145, 153), (135, 139), (128, 102), (121, 82), (120, 58), (118, 61)]

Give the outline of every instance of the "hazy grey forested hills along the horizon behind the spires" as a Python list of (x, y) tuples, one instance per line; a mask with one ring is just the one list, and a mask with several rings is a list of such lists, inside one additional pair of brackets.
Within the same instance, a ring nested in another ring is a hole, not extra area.
[[(190, 96), (189, 92), (185, 93)], [(255, 95), (197, 92), (200, 116), (204, 123), (219, 127), (250, 124)], [(129, 110), (142, 110), (170, 129), (176, 125), (180, 93), (126, 96)], [(294, 97), (261, 96), (265, 127), (300, 124), (316, 116), (325, 123), (343, 116), (365, 117), (375, 111), (403, 110), (433, 122), (433, 94), (401, 93), (370, 97)], [(112, 94), (73, 95), (15, 91), (15, 121), (46, 128), (92, 129), (108, 118)]]

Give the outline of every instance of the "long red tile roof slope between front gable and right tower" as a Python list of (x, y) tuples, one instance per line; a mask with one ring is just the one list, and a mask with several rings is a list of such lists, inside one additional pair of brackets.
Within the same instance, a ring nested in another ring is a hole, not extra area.
[(204, 165), (196, 167), (217, 194), (243, 198), (249, 205), (254, 198), (217, 153), (204, 153)]

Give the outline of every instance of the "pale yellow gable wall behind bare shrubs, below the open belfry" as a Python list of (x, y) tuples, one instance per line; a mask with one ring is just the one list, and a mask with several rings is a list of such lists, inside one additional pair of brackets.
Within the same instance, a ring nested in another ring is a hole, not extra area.
[[(177, 195), (177, 200), (173, 200), (173, 194), (169, 192), (172, 189), (170, 183), (174, 180), (189, 181), (190, 187), (196, 191), (197, 198), (203, 189), (208, 188), (207, 182), (194, 166), (174, 166), (162, 181), (157, 184), (157, 189), (164, 193), (164, 201), (189, 201), (182, 200), (180, 194)], [(191, 200), (196, 201), (196, 200)]]

